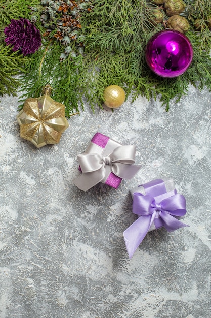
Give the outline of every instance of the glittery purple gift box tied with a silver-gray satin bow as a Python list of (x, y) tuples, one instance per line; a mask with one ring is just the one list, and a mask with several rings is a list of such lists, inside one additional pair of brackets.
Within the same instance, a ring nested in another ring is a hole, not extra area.
[(131, 179), (140, 166), (135, 162), (134, 146), (123, 146), (112, 138), (96, 133), (85, 152), (77, 156), (81, 174), (74, 184), (87, 191), (99, 182), (118, 188), (121, 180)]

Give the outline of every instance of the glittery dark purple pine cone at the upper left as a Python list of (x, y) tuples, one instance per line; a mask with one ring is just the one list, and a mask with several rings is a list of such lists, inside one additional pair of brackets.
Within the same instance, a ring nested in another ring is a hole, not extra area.
[(41, 45), (39, 30), (27, 19), (11, 20), (5, 30), (7, 45), (13, 46), (13, 51), (22, 50), (23, 55), (34, 53)]

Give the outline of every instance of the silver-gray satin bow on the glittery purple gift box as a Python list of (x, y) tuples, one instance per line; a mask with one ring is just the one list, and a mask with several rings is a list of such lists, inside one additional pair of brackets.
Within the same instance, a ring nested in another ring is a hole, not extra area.
[(97, 183), (105, 181), (110, 172), (121, 179), (131, 179), (140, 169), (135, 163), (135, 146), (118, 146), (109, 155), (82, 153), (77, 156), (82, 171), (74, 184), (87, 191)]

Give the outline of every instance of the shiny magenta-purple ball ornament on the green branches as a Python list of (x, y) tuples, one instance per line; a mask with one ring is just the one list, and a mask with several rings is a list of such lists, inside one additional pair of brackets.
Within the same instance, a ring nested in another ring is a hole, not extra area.
[(149, 68), (162, 77), (183, 74), (193, 59), (190, 40), (181, 32), (166, 29), (156, 33), (147, 43), (145, 51)]

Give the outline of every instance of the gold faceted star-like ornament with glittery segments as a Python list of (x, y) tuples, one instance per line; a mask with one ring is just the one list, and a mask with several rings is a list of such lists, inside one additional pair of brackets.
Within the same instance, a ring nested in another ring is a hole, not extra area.
[(51, 97), (51, 87), (44, 88), (44, 95), (28, 98), (17, 116), (20, 136), (37, 148), (57, 144), (69, 123), (65, 118), (65, 106)]

